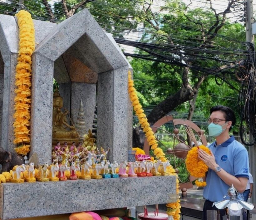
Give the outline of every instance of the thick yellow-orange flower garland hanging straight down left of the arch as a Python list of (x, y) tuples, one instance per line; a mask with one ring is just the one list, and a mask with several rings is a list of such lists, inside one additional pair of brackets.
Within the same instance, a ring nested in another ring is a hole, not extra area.
[(15, 121), (14, 127), (14, 144), (17, 154), (27, 155), (30, 148), (30, 103), (31, 103), (31, 66), (32, 53), (35, 50), (35, 29), (31, 14), (21, 10), (17, 14), (19, 26), (19, 52), (17, 58), (16, 75), (15, 75), (15, 99), (13, 115)]

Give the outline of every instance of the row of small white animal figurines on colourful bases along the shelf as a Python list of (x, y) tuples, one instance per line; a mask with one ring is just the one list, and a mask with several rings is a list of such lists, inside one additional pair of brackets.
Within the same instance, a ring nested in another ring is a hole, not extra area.
[[(34, 163), (30, 165), (22, 164), (15, 166), (12, 169), (12, 183), (23, 183), (24, 179), (27, 182), (47, 182), (76, 179), (101, 179), (101, 178), (118, 178), (118, 177), (145, 177), (145, 176), (161, 176), (169, 175), (166, 168), (170, 166), (169, 161), (161, 162), (157, 160), (154, 163), (150, 160), (143, 160), (141, 162), (127, 161), (118, 164), (109, 163), (108, 160), (103, 160), (100, 164), (90, 165), (87, 161), (79, 166), (73, 161), (71, 166), (66, 164), (51, 164), (39, 165), (38, 170), (34, 168)], [(36, 172), (37, 171), (37, 172)]]

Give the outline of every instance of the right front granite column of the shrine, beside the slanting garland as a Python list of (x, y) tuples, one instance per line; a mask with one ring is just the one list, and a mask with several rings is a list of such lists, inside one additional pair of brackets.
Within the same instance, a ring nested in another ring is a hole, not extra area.
[(128, 157), (130, 126), (128, 66), (98, 75), (97, 145), (110, 148), (110, 161), (123, 162)]

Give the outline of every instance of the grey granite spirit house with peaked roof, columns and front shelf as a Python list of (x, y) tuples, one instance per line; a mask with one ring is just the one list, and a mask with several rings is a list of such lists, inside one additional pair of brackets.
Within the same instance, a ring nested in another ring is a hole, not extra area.
[[(63, 107), (70, 111), (74, 122), (82, 100), (87, 130), (92, 127), (97, 93), (97, 145), (110, 148), (111, 162), (127, 160), (132, 140), (132, 108), (127, 89), (127, 72), (131, 67), (112, 36), (101, 29), (86, 9), (60, 24), (34, 20), (34, 26), (30, 155), (36, 153), (39, 164), (51, 163), (53, 79), (56, 79)], [(14, 151), (18, 33), (16, 18), (0, 15), (0, 138), (2, 148), (8, 151)], [(4, 183), (0, 184), (0, 218), (174, 202), (175, 178)]]

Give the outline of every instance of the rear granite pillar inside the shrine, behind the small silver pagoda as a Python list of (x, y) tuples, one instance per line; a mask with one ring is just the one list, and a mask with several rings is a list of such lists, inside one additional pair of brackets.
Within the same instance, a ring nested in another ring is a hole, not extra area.
[(83, 100), (86, 133), (92, 129), (96, 105), (96, 84), (71, 82), (71, 119), (76, 125), (78, 110)]

